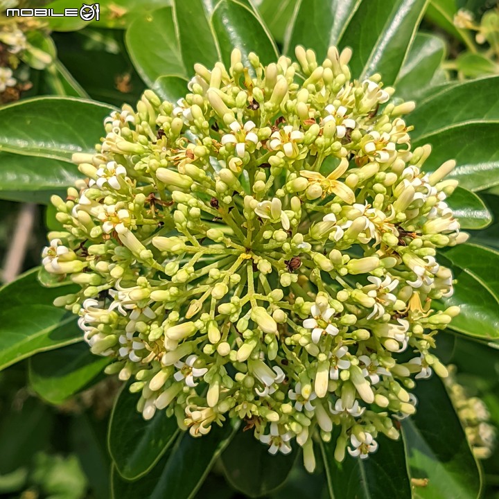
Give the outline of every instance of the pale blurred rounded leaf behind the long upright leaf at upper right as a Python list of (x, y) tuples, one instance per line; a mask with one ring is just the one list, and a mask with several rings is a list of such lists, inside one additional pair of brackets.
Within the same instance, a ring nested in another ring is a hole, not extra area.
[(426, 94), (445, 54), (444, 40), (428, 33), (417, 33), (395, 82), (396, 96), (414, 100)]

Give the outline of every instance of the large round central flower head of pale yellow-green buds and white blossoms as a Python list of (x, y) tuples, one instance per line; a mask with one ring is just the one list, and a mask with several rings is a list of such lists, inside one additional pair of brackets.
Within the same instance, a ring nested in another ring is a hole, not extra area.
[(146, 91), (105, 120), (88, 180), (54, 197), (64, 231), (44, 268), (80, 292), (80, 315), (108, 373), (134, 382), (150, 419), (175, 414), (204, 435), (242, 419), (270, 452), (313, 437), (335, 457), (376, 450), (415, 411), (415, 378), (446, 368), (435, 333), (457, 307), (436, 249), (466, 239), (446, 204), (448, 161), (411, 150), (379, 75), (351, 80), (350, 51), (312, 51), (267, 67), (195, 66), (173, 104)]

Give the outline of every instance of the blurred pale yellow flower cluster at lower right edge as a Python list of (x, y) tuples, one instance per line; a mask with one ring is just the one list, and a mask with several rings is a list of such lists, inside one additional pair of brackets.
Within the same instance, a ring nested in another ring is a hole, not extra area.
[(456, 380), (455, 365), (448, 366), (449, 376), (444, 383), (466, 438), (477, 459), (487, 459), (496, 447), (496, 428), (490, 423), (490, 413), (482, 399), (469, 396), (469, 390)]

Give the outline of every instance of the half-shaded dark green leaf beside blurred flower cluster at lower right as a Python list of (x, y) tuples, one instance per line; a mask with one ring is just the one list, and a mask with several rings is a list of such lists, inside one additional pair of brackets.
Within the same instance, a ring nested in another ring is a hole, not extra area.
[(414, 487), (415, 499), (476, 499), (480, 471), (446, 389), (435, 376), (421, 380), (414, 416), (402, 422), (412, 478), (428, 480)]

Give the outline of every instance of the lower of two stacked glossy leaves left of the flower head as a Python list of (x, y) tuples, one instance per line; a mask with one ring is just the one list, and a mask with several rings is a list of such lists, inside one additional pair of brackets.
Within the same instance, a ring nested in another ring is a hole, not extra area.
[(54, 191), (72, 186), (78, 178), (82, 175), (76, 165), (66, 161), (0, 152), (0, 198), (33, 201), (32, 193), (37, 192), (46, 202)]

